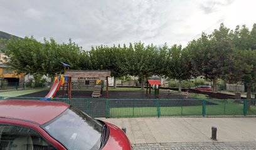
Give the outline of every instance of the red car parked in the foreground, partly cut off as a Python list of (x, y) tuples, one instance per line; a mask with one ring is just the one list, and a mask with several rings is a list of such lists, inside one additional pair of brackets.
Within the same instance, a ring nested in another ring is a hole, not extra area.
[(125, 133), (69, 104), (1, 100), (0, 149), (132, 149)]

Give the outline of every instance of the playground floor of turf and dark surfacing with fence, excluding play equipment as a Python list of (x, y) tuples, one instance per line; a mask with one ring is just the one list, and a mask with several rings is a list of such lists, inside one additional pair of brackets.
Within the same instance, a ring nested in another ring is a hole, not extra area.
[[(146, 95), (146, 90), (139, 88), (109, 89), (109, 99), (106, 99), (104, 89), (102, 97), (92, 98), (93, 89), (73, 89), (72, 99), (67, 94), (62, 98), (62, 91), (58, 90), (51, 101), (70, 103), (93, 117), (122, 118), (143, 116), (220, 116), (220, 115), (255, 115), (255, 106), (245, 108), (245, 100), (235, 99), (207, 99), (203, 94), (184, 93), (178, 91), (161, 90), (157, 99)], [(1, 92), (4, 99), (32, 99), (40, 100), (49, 89), (34, 89)], [(11, 97), (10, 97), (11, 96)]]

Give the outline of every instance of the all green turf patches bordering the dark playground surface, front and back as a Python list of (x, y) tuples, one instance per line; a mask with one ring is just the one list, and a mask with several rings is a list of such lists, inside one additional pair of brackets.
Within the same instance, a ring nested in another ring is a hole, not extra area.
[[(36, 93), (45, 89), (28, 89), (18, 91), (1, 92), (0, 96), (16, 97), (24, 94)], [(86, 89), (84, 89), (86, 90)], [(88, 89), (92, 90), (92, 89)], [(109, 88), (109, 91), (141, 91), (140, 88)], [(163, 89), (162, 89), (163, 91)], [(181, 94), (178, 91), (172, 91), (174, 94)], [(243, 115), (243, 104), (235, 100), (221, 100), (208, 99), (205, 94), (189, 93), (189, 97), (196, 99), (206, 99), (206, 101), (215, 103), (216, 105), (206, 105), (206, 115)], [(188, 100), (190, 101), (190, 100)], [(202, 115), (203, 106), (175, 106), (175, 107), (161, 107), (161, 116), (188, 116), (188, 115)], [(248, 115), (256, 115), (256, 106), (250, 106), (247, 110)], [(110, 108), (109, 116), (115, 117), (132, 117), (132, 116), (157, 116), (156, 107), (142, 107), (142, 108)]]

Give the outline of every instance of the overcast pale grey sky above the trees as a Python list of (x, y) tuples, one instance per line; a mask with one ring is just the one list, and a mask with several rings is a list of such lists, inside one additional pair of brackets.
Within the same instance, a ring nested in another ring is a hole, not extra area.
[(0, 31), (24, 37), (69, 38), (83, 49), (100, 44), (182, 44), (224, 22), (256, 22), (254, 0), (0, 0)]

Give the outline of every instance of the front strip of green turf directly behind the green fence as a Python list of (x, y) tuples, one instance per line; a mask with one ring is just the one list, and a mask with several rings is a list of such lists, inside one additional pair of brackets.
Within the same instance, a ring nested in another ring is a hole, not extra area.
[[(234, 100), (206, 100), (216, 105), (206, 105), (206, 116), (243, 115), (243, 104)], [(161, 107), (161, 116), (202, 116), (203, 106)], [(250, 106), (248, 115), (256, 115), (256, 106)], [(110, 117), (157, 116), (156, 107), (110, 108)]]

